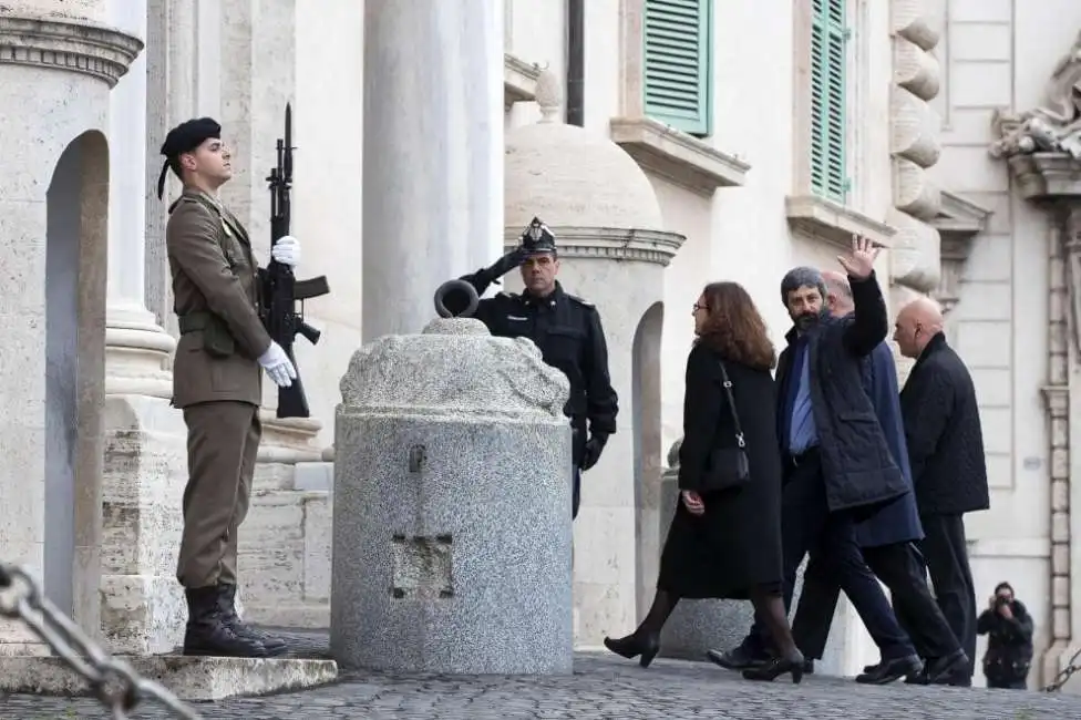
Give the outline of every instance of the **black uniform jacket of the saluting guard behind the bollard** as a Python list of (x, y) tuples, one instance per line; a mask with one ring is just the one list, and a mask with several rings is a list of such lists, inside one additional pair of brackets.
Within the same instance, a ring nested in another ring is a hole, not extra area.
[[(476, 285), (471, 276), (462, 279)], [(580, 431), (579, 444), (585, 443), (587, 420), (593, 434), (616, 432), (618, 399), (608, 376), (608, 346), (597, 308), (564, 292), (556, 282), (555, 291), (543, 299), (513, 292), (485, 298), (473, 317), (494, 336), (529, 338), (544, 361), (567, 376), (570, 398), (564, 412)]]

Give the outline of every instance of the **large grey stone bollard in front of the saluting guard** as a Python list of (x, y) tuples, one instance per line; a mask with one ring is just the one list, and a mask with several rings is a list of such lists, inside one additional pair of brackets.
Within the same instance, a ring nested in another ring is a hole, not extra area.
[(477, 320), (359, 350), (334, 429), (330, 645), (344, 667), (568, 673), (566, 377)]

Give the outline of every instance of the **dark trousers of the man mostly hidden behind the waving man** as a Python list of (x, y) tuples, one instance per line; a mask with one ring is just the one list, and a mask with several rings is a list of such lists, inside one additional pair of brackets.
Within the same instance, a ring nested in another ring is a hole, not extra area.
[[(960, 647), (927, 587), (923, 558), (912, 543), (864, 547), (863, 557), (889, 588), (897, 619), (902, 614), (910, 619), (903, 627), (920, 657), (940, 658)], [(805, 657), (822, 657), (840, 590), (833, 564), (824, 553), (813, 553), (792, 623), (792, 636)]]

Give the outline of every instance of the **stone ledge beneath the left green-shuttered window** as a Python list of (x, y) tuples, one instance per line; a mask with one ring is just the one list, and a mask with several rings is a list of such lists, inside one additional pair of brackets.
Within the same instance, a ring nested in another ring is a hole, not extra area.
[(703, 197), (718, 187), (743, 185), (751, 166), (651, 117), (612, 117), (611, 141), (638, 166)]

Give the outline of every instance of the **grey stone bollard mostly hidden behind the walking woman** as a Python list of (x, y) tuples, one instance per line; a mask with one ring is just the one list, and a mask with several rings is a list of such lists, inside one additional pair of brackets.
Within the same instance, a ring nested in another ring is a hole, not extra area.
[[(661, 476), (661, 533), (676, 516), (679, 502), (679, 445), (676, 441), (668, 453), (668, 470)], [(803, 580), (803, 568), (796, 579), (796, 599)], [(793, 600), (793, 607), (794, 600)], [(709, 649), (728, 650), (747, 636), (754, 621), (754, 609), (747, 600), (680, 600), (661, 631), (660, 655), (683, 660), (704, 660)]]

